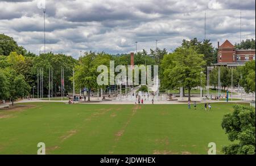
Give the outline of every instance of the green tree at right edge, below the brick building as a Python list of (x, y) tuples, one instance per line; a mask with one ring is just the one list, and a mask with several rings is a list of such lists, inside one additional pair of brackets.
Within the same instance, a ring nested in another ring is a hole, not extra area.
[(245, 63), (245, 66), (240, 68), (242, 79), (240, 84), (247, 93), (255, 92), (255, 60)]

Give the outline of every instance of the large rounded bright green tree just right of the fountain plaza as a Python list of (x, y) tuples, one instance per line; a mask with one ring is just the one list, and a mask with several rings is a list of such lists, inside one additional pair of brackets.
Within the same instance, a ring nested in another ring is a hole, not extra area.
[[(172, 64), (164, 69), (165, 80), (168, 80), (168, 86), (179, 88), (184, 87), (188, 90), (188, 100), (191, 100), (191, 89), (196, 86), (203, 86), (205, 82), (204, 55), (198, 54), (193, 47), (177, 48), (169, 56)], [(165, 59), (167, 61), (167, 59)]]

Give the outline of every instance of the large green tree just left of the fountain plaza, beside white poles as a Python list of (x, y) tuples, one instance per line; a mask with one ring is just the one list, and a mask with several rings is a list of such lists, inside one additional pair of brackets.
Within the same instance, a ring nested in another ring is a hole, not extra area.
[[(88, 101), (90, 101), (90, 92), (97, 88), (105, 88), (97, 84), (97, 67), (106, 65), (109, 67), (110, 56), (105, 53), (86, 52), (79, 58), (79, 65), (75, 67), (75, 86), (77, 89), (87, 88)], [(72, 79), (72, 78), (71, 78)]]

